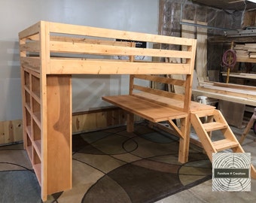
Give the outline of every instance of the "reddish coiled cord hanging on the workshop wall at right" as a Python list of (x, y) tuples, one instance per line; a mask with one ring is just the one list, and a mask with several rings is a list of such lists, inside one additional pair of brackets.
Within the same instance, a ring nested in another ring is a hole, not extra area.
[(224, 52), (222, 56), (222, 62), (221, 62), (221, 66), (227, 68), (226, 83), (229, 82), (230, 69), (233, 69), (235, 65), (236, 65), (236, 51), (233, 50), (233, 41), (232, 41), (230, 50), (227, 50)]

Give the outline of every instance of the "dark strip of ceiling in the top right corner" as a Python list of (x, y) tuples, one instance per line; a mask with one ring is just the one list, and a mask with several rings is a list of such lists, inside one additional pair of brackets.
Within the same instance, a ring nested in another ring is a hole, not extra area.
[[(213, 8), (219, 8), (223, 10), (254, 10), (256, 9), (256, 4), (244, 1), (244, 0), (192, 0), (192, 2), (200, 5), (208, 5)], [(246, 8), (245, 8), (246, 5)]]

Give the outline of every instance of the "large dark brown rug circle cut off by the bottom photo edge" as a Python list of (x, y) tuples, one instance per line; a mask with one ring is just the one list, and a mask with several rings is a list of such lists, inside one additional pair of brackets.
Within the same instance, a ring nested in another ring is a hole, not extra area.
[(177, 192), (181, 186), (177, 174), (126, 164), (98, 180), (82, 202), (157, 201)]

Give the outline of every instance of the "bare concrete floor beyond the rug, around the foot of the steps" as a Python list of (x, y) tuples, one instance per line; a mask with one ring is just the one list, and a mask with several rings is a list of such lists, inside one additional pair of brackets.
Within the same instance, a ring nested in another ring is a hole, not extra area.
[[(240, 138), (243, 129), (231, 127), (236, 138)], [(251, 153), (251, 163), (256, 168), (256, 135), (251, 130), (242, 143), (246, 153)], [(256, 202), (256, 180), (251, 179), (251, 192), (212, 192), (212, 180), (201, 183), (190, 189), (178, 192), (175, 195), (163, 198), (156, 203), (235, 203), (235, 202)]]

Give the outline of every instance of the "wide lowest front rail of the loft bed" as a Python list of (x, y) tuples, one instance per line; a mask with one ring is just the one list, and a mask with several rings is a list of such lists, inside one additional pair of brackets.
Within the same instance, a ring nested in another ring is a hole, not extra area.
[(47, 74), (190, 74), (190, 65), (108, 60), (51, 59)]

